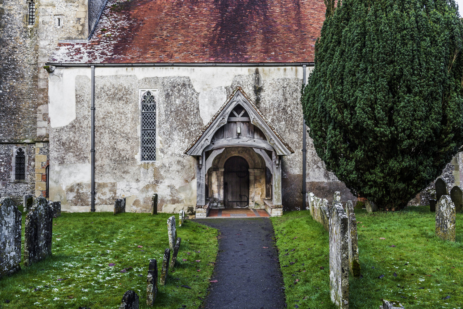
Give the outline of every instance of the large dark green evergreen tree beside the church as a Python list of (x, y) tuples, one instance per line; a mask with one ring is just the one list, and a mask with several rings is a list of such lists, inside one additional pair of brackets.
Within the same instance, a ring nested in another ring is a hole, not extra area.
[(463, 145), (463, 26), (453, 0), (344, 0), (303, 90), (326, 168), (385, 210), (438, 177)]

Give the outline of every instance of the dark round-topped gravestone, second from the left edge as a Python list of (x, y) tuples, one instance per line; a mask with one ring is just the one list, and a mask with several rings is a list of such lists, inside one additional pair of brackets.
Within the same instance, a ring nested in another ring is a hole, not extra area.
[(29, 266), (51, 255), (53, 208), (40, 196), (26, 214), (24, 227), (24, 265)]

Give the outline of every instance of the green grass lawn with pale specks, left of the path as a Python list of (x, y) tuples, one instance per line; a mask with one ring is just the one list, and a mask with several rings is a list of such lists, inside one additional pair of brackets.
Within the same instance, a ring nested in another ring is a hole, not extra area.
[[(157, 260), (160, 276), (163, 252), (169, 247), (166, 221), (171, 215), (63, 213), (53, 219), (52, 256), (29, 268), (21, 263), (21, 271), (0, 279), (0, 308), (114, 309), (126, 290), (138, 294), (140, 308), (150, 308), (146, 305), (149, 260)], [(23, 213), (23, 244), (24, 219)], [(177, 236), (181, 237), (177, 266), (169, 271), (166, 286), (159, 287), (154, 308), (197, 308), (209, 286), (217, 230), (185, 221), (177, 227)]]

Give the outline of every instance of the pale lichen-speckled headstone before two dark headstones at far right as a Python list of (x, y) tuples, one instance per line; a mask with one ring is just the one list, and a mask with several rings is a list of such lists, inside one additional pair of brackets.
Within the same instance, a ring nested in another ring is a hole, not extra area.
[(449, 195), (442, 195), (436, 205), (436, 235), (455, 241), (455, 205)]

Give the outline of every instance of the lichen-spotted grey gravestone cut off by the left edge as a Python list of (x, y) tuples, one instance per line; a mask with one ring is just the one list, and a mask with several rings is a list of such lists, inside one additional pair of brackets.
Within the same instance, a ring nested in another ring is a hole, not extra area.
[(0, 198), (0, 278), (21, 267), (21, 212), (9, 197)]

